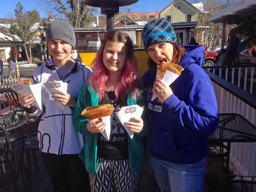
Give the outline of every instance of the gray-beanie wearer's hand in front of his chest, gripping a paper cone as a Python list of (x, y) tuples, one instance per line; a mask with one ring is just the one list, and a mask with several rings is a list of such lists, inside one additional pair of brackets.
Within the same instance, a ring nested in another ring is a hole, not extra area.
[(55, 88), (56, 91), (60, 92), (58, 93), (52, 93), (52, 98), (62, 105), (69, 106), (69, 107), (76, 107), (76, 99), (74, 99), (70, 94), (65, 93), (58, 88)]

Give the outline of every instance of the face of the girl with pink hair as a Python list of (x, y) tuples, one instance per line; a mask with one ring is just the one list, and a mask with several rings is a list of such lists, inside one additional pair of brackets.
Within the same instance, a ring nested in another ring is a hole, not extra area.
[(125, 66), (125, 43), (107, 41), (103, 50), (103, 63), (108, 73), (120, 75)]

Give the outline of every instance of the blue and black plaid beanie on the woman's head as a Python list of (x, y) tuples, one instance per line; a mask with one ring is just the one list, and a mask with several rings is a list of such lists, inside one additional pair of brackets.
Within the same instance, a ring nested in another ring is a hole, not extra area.
[(165, 18), (155, 19), (145, 24), (142, 39), (146, 51), (149, 46), (160, 42), (177, 44), (171, 21)]

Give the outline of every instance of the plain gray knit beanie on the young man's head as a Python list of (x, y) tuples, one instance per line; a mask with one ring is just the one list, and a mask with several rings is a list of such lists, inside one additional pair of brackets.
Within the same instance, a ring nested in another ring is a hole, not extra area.
[(75, 47), (76, 45), (76, 35), (73, 26), (67, 21), (58, 19), (53, 20), (48, 24), (45, 33), (47, 44), (52, 39), (61, 39), (66, 41), (72, 47)]

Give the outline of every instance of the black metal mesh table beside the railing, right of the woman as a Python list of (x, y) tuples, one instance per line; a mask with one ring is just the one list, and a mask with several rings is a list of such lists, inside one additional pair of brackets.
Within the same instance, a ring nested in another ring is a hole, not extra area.
[[(218, 128), (208, 140), (209, 148), (212, 145), (218, 146), (219, 153), (209, 153), (208, 156), (221, 157), (223, 172), (229, 174), (231, 143), (256, 142), (256, 126), (237, 113), (219, 113), (219, 119)], [(227, 143), (227, 145), (224, 143)], [(227, 151), (224, 151), (224, 149)], [(226, 160), (224, 157), (226, 157)]]

